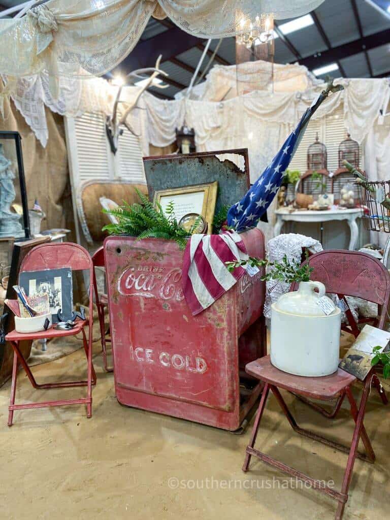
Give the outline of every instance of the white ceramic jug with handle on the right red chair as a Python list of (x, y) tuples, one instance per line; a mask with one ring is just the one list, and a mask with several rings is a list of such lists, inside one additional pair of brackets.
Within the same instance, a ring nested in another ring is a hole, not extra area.
[[(318, 292), (315, 292), (318, 289)], [(339, 366), (341, 310), (321, 282), (301, 282), (271, 306), (271, 363), (295, 375), (332, 374)], [(333, 309), (329, 315), (318, 301)]]

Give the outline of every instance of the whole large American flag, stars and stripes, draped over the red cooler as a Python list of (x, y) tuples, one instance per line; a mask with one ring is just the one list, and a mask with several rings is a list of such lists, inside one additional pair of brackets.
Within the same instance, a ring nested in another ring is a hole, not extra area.
[(259, 218), (267, 210), (280, 187), (283, 173), (290, 164), (311, 115), (328, 94), (328, 90), (324, 90), (318, 96), (262, 176), (240, 202), (231, 206), (228, 225), (236, 230), (225, 231), (220, 235), (191, 236), (184, 252), (182, 283), (187, 304), (193, 315), (210, 307), (245, 274), (242, 267), (229, 272), (226, 266), (226, 262), (248, 259), (244, 243), (237, 231), (256, 226)]

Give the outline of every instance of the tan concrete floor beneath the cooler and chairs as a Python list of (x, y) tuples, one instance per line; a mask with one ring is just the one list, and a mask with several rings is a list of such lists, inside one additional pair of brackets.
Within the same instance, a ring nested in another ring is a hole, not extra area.
[[(86, 419), (83, 406), (23, 410), (15, 412), (9, 428), (10, 385), (0, 388), (1, 519), (334, 517), (334, 501), (314, 490), (294, 489), (295, 481), (259, 461), (252, 461), (247, 474), (241, 472), (250, 428), (237, 436), (121, 406), (113, 375), (103, 372), (98, 351), (96, 343), (92, 419)], [(79, 350), (33, 372), (38, 381), (48, 381), (58, 374), (76, 377), (84, 369)], [(20, 373), (17, 402), (46, 400), (57, 392), (34, 391)], [(78, 393), (77, 388), (61, 390), (61, 396)], [(353, 428), (346, 407), (328, 421), (285, 396), (302, 426), (350, 441)], [(357, 460), (345, 520), (388, 518), (389, 412), (372, 393), (366, 428), (377, 461), (371, 465)], [(313, 477), (341, 485), (346, 456), (293, 434), (274, 397), (257, 446)], [(177, 479), (183, 480), (178, 488)]]

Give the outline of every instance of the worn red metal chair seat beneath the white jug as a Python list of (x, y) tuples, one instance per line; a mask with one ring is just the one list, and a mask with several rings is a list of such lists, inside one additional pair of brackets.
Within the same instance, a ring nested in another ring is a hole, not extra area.
[(344, 389), (356, 381), (352, 374), (342, 369), (331, 375), (320, 378), (307, 378), (300, 375), (292, 375), (283, 372), (271, 364), (270, 356), (265, 356), (248, 363), (245, 371), (256, 379), (265, 381), (278, 388), (284, 388), (294, 394), (303, 395), (313, 399), (332, 400), (341, 394)]

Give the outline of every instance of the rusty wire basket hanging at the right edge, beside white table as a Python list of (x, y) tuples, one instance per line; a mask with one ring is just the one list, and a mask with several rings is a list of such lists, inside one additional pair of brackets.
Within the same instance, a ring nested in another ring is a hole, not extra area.
[(368, 209), (368, 214), (363, 215), (365, 228), (390, 233), (390, 180), (364, 182), (361, 187), (365, 191)]

